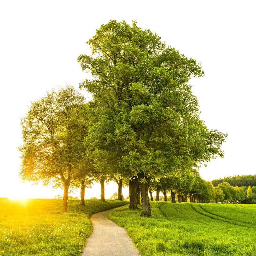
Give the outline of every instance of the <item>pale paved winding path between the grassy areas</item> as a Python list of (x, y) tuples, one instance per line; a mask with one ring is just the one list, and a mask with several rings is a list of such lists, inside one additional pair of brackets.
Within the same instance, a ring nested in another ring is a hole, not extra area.
[(124, 228), (108, 220), (108, 211), (93, 214), (93, 233), (82, 256), (140, 256)]

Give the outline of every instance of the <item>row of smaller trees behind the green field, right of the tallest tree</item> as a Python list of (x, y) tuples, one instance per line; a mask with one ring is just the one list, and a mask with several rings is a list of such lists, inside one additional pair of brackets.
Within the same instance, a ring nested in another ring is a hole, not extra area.
[[(192, 176), (190, 176), (191, 178)], [(177, 187), (173, 186), (171, 180), (161, 180), (150, 185), (149, 194), (153, 201), (152, 193), (156, 191), (155, 200), (160, 200), (160, 191), (163, 193), (162, 200), (176, 202), (232, 202), (232, 203), (256, 203), (256, 187), (238, 187), (231, 186), (227, 182), (218, 184), (213, 187), (212, 182), (202, 180), (199, 175), (189, 180), (187, 183), (182, 183), (177, 180)], [(183, 184), (183, 185), (181, 185)], [(185, 186), (184, 186), (185, 185)], [(167, 193), (170, 193), (169, 198)]]

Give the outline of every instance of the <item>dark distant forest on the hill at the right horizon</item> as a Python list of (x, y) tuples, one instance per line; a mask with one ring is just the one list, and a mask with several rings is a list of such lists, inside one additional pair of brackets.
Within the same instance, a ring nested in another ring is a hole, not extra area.
[(235, 187), (248, 187), (248, 186), (256, 186), (256, 175), (235, 175), (235, 176), (230, 176), (230, 177), (224, 177), (223, 179), (217, 179), (217, 180), (212, 180), (212, 184), (214, 187), (217, 187), (218, 184), (222, 182), (228, 182), (231, 186)]

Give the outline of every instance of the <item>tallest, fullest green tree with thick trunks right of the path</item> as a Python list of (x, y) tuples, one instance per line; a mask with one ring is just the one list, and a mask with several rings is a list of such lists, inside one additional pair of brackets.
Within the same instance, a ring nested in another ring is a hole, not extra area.
[(81, 54), (78, 61), (94, 78), (80, 86), (94, 95), (92, 127), (100, 128), (90, 130), (88, 150), (103, 154), (103, 165), (129, 180), (131, 208), (137, 207), (132, 195), (139, 181), (141, 216), (150, 217), (150, 181), (222, 157), (226, 135), (209, 131), (199, 119), (187, 83), (203, 75), (200, 64), (150, 30), (111, 20), (88, 44), (92, 55)]

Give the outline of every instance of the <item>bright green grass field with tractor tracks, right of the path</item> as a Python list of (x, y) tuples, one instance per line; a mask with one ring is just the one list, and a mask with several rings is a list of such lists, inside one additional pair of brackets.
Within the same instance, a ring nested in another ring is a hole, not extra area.
[(255, 204), (150, 204), (150, 219), (128, 206), (108, 214), (128, 231), (142, 256), (256, 255)]

